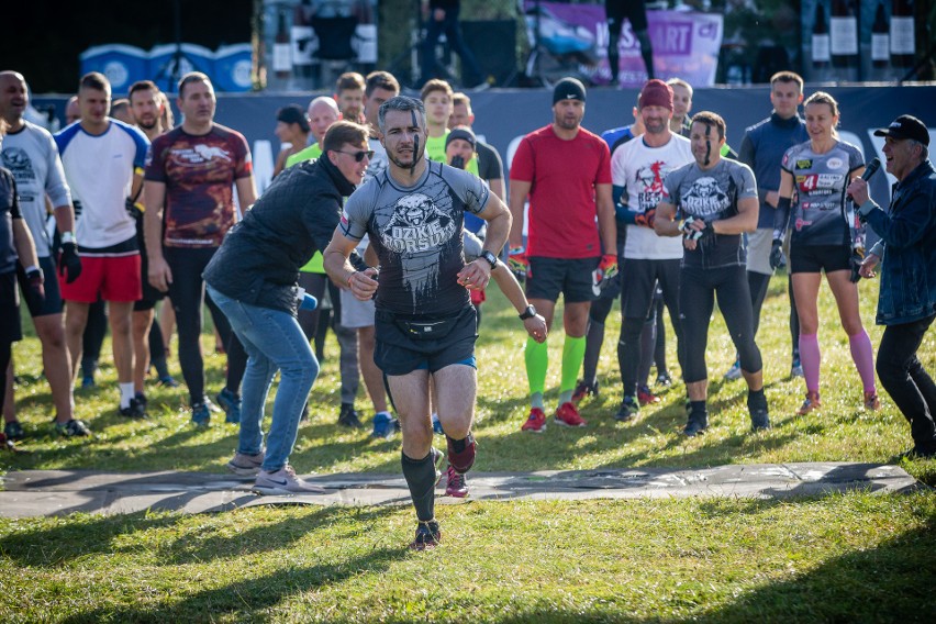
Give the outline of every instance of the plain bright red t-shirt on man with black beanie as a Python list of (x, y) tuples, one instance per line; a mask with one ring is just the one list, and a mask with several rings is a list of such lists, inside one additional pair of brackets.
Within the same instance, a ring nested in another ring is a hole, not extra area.
[(611, 153), (595, 134), (579, 129), (571, 141), (547, 125), (523, 137), (510, 179), (532, 182), (528, 256), (593, 258), (601, 255), (595, 185), (611, 183)]

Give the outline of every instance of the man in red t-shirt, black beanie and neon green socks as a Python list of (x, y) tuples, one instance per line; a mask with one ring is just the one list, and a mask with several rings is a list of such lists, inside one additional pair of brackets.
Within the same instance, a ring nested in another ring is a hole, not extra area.
[[(611, 154), (601, 137), (581, 127), (584, 102), (586, 89), (579, 80), (559, 80), (553, 90), (553, 123), (523, 137), (510, 171), (510, 261), (517, 271), (526, 272), (526, 297), (547, 326), (551, 327), (559, 293), (565, 300), (566, 341), (554, 422), (572, 427), (586, 425), (572, 403), (572, 392), (584, 358), (593, 274), (597, 270), (600, 279), (610, 279), (617, 272)], [(530, 232), (524, 249), (527, 197)], [(522, 431), (542, 433), (549, 365), (546, 342), (527, 338), (524, 359), (531, 410)]]

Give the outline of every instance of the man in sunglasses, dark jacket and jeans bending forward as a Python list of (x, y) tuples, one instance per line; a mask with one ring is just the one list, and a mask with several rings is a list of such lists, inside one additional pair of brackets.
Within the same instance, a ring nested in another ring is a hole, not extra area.
[[(319, 361), (297, 320), (304, 293), (299, 268), (324, 249), (343, 198), (364, 180), (366, 127), (339, 121), (325, 133), (325, 154), (286, 169), (235, 225), (204, 270), (212, 300), (231, 322), (249, 359), (244, 371), (241, 434), (231, 471), (256, 476), (261, 494), (322, 493), (297, 477), (289, 455)], [(260, 425), (281, 371), (266, 448)]]

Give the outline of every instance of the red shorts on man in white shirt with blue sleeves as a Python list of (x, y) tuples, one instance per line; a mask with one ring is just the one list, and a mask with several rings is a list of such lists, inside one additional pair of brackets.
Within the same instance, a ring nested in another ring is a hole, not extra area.
[(81, 256), (81, 275), (71, 283), (58, 276), (62, 299), (93, 303), (100, 294), (104, 301), (138, 301), (143, 297), (140, 254), (132, 256)]

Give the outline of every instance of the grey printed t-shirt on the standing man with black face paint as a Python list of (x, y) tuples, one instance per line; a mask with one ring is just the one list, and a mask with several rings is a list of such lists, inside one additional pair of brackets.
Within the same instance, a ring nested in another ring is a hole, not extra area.
[[(757, 198), (757, 182), (750, 167), (722, 158), (703, 171), (695, 163), (683, 165), (664, 180), (669, 201), (683, 216), (700, 216), (706, 222), (728, 219), (738, 213), (738, 200)], [(740, 234), (715, 234), (701, 239), (693, 250), (686, 249), (682, 266), (744, 266), (747, 259)]]

